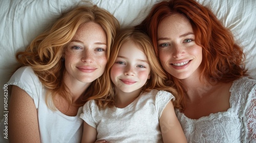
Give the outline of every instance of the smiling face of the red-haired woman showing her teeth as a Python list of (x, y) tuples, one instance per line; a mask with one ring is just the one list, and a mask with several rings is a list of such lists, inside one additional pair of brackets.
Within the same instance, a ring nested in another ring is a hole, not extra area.
[(160, 62), (170, 75), (186, 79), (200, 73), (202, 47), (196, 44), (185, 16), (173, 14), (164, 18), (158, 26), (157, 44)]

